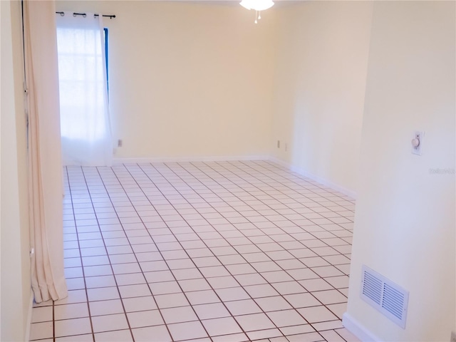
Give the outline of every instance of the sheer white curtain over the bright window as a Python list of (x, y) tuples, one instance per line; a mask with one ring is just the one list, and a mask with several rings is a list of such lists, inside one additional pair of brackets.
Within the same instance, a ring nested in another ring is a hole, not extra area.
[(64, 12), (56, 22), (63, 165), (109, 166), (113, 142), (102, 16)]

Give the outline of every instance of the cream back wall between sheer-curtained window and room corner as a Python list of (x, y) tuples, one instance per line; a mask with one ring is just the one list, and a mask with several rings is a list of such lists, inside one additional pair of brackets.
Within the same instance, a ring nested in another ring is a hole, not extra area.
[(274, 11), (239, 4), (58, 1), (115, 14), (110, 109), (116, 157), (268, 155)]

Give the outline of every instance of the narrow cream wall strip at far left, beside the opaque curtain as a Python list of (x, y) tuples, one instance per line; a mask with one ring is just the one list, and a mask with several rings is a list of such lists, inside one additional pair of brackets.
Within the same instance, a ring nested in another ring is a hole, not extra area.
[(1, 341), (25, 341), (29, 312), (26, 126), (20, 1), (1, 2)]

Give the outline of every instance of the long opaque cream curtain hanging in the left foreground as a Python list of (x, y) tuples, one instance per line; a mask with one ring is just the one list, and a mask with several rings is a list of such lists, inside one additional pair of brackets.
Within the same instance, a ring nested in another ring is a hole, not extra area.
[[(54, 1), (24, 1), (31, 285), (36, 303), (68, 295)], [(11, 227), (13, 229), (14, 227)]]

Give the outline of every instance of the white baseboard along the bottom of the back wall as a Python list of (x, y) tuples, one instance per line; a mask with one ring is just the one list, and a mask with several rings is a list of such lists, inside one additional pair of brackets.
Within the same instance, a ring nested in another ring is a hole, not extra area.
[(142, 158), (113, 158), (113, 165), (140, 164), (151, 162), (230, 162), (236, 160), (269, 160), (267, 155), (237, 155), (237, 156), (208, 156), (208, 157), (142, 157)]

